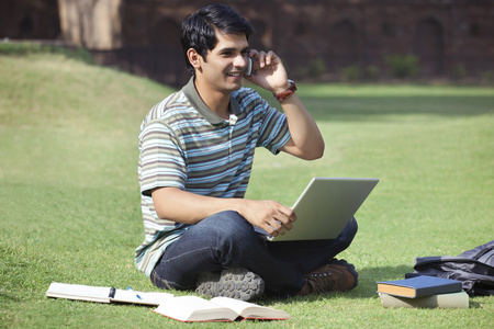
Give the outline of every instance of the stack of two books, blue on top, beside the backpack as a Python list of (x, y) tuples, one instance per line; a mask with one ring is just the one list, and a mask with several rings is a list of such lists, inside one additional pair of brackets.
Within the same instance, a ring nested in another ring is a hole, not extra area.
[(468, 308), (469, 295), (457, 280), (420, 275), (378, 282), (381, 305), (386, 308)]

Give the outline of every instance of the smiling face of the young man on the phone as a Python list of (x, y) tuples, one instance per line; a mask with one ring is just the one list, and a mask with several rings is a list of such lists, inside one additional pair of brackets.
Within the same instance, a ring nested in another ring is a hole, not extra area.
[(201, 76), (212, 90), (229, 93), (242, 87), (249, 44), (245, 34), (226, 34), (220, 30), (216, 38), (216, 47), (207, 52)]

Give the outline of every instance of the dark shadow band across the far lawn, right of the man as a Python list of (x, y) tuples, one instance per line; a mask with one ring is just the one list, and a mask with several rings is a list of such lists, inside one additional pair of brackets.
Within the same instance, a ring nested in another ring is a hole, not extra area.
[[(307, 87), (308, 88), (308, 87)], [(401, 115), (428, 115), (428, 116), (475, 116), (494, 113), (493, 92), (459, 88), (456, 90), (437, 89), (418, 90), (412, 94), (395, 94), (394, 87), (389, 92), (378, 88), (375, 94), (355, 95), (314, 95), (311, 92), (304, 94), (301, 91), (302, 102), (316, 121), (390, 121)], [(256, 89), (256, 88), (255, 88)], [(259, 94), (268, 100), (271, 105), (281, 110), (280, 105), (271, 102), (272, 95), (263, 90), (256, 89)], [(330, 90), (330, 89), (328, 89)]]

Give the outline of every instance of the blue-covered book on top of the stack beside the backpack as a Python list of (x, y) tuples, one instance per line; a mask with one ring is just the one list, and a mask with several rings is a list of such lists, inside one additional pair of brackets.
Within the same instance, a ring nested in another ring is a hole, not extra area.
[(461, 281), (428, 275), (378, 282), (378, 293), (408, 298), (458, 293), (461, 291)]

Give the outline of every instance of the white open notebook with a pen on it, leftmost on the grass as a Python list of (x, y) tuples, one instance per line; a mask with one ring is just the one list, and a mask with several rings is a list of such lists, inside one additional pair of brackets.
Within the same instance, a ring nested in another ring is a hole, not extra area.
[(130, 288), (117, 290), (106, 286), (90, 286), (81, 284), (67, 284), (53, 282), (48, 291), (47, 297), (65, 298), (74, 300), (86, 300), (96, 303), (130, 303), (158, 306), (164, 300), (172, 298), (172, 294), (168, 293), (144, 293), (134, 292)]

